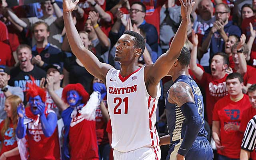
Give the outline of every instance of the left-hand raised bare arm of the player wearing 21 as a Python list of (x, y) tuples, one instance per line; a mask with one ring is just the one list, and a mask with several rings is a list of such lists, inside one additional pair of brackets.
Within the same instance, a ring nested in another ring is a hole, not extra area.
[(92, 52), (84, 48), (82, 40), (73, 23), (71, 13), (78, 2), (79, 0), (76, 0), (74, 3), (72, 0), (63, 0), (63, 18), (68, 42), (72, 52), (80, 60), (80, 62), (82, 62), (86, 70), (93, 76), (105, 81), (108, 70), (113, 67), (109, 64), (101, 63)]

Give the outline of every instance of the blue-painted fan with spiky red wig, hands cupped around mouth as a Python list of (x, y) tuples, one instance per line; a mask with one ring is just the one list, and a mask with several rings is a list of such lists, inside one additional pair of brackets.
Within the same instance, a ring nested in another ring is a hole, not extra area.
[(60, 160), (56, 113), (45, 107), (46, 91), (36, 86), (32, 76), (30, 79), (32, 82), (26, 84), (29, 106), (18, 106), (16, 135), (28, 137), (28, 160)]

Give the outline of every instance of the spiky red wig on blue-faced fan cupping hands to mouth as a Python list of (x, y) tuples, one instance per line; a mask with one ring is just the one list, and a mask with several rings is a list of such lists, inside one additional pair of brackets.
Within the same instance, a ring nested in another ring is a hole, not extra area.
[(35, 78), (31, 75), (29, 76), (32, 82), (27, 82), (26, 87), (28, 88), (26, 90), (26, 98), (27, 101), (30, 97), (40, 96), (42, 101), (45, 102), (46, 100), (46, 91), (38, 86), (36, 86)]

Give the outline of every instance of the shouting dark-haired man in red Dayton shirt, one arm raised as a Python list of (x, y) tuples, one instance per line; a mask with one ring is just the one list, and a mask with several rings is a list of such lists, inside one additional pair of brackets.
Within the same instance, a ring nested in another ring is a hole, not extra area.
[(226, 88), (226, 77), (228, 74), (225, 72), (226, 68), (228, 68), (228, 55), (222, 52), (215, 54), (210, 65), (212, 74), (208, 74), (196, 64), (198, 36), (194, 31), (192, 32), (192, 42), (193, 47), (189, 67), (200, 86), (205, 89), (207, 122), (211, 126), (214, 104), (220, 98), (228, 95)]

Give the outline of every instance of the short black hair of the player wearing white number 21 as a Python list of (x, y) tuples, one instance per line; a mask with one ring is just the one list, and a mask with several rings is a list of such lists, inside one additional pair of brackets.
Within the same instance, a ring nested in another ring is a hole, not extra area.
[(140, 59), (140, 57), (144, 53), (145, 45), (146, 45), (144, 38), (140, 34), (138, 34), (137, 32), (130, 31), (130, 30), (126, 30), (124, 32), (124, 34), (129, 34), (130, 36), (134, 37), (134, 40), (133, 40), (134, 41), (134, 48), (140, 48), (141, 49), (141, 54), (138, 58), (138, 59)]

